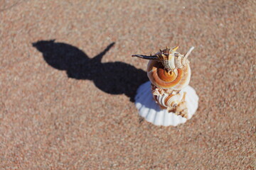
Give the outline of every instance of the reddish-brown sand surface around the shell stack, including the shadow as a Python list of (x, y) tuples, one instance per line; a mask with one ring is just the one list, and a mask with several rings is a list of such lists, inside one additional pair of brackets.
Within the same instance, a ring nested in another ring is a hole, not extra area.
[[(0, 169), (254, 169), (255, 1), (0, 0)], [(159, 127), (134, 95), (179, 45), (199, 96)]]

